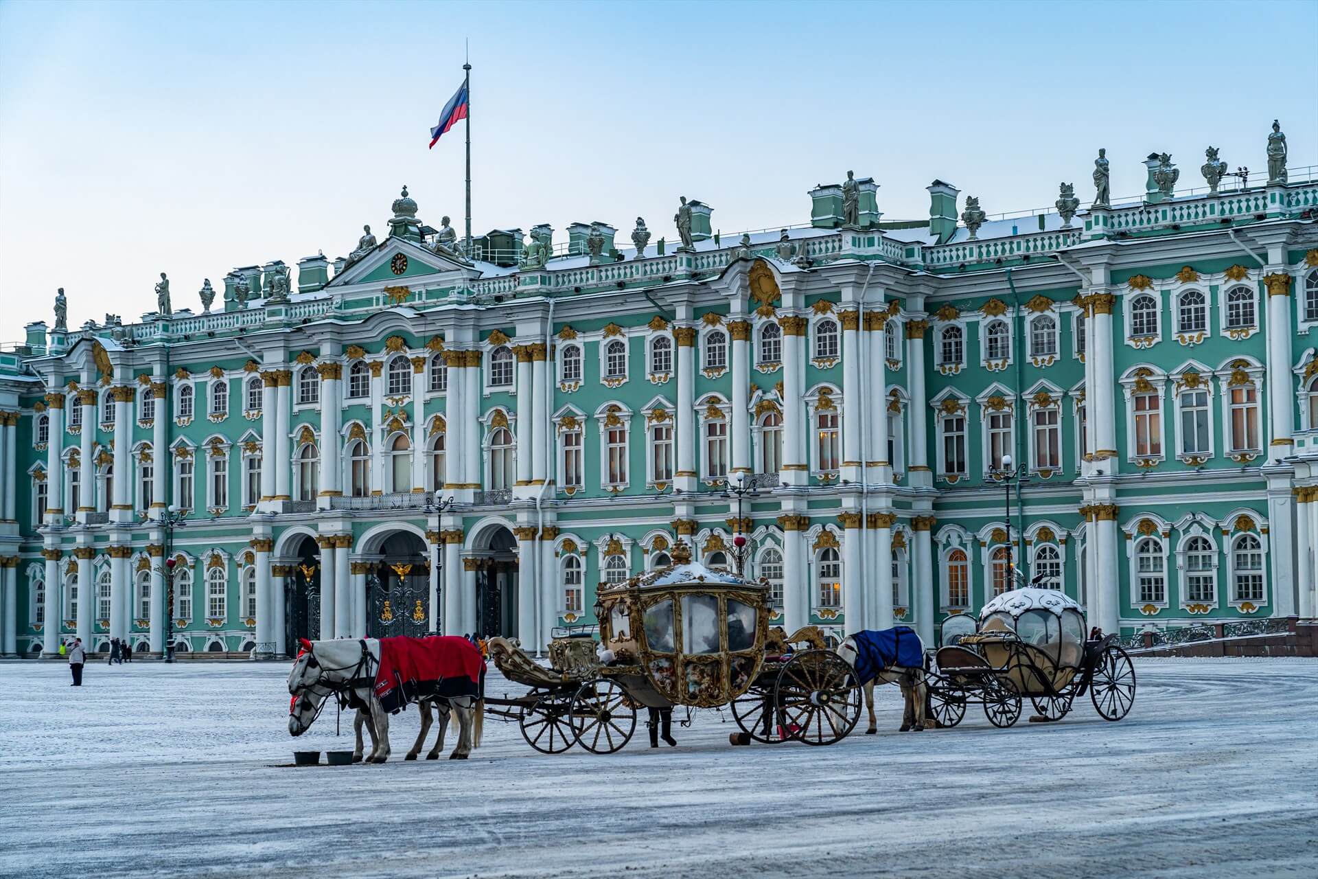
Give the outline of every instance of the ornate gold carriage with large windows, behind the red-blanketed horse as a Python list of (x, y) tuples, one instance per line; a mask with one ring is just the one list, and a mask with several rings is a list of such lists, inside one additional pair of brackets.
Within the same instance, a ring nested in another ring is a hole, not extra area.
[(855, 672), (824, 648), (817, 630), (770, 631), (764, 584), (692, 563), (684, 544), (672, 557), (659, 571), (601, 584), (598, 626), (555, 638), (551, 668), (492, 639), (503, 676), (531, 689), (486, 695), (486, 710), (517, 720), (531, 747), (547, 754), (573, 745), (612, 754), (631, 739), (642, 706), (728, 705), (760, 742), (832, 745), (851, 731), (861, 716)]

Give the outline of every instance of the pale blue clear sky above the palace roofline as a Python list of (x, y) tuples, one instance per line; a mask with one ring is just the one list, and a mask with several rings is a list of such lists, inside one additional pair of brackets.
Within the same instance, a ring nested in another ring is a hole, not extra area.
[(949, 181), (990, 213), (1114, 195), (1170, 152), (1318, 163), (1318, 1), (0, 1), (0, 341), (199, 310), (233, 266), (345, 254), (407, 183), (461, 228), (463, 132), (427, 150), (471, 40), (473, 228), (646, 217), (679, 195), (725, 235), (804, 223), (847, 169), (886, 219)]

